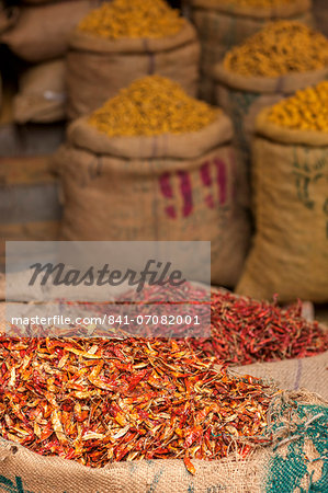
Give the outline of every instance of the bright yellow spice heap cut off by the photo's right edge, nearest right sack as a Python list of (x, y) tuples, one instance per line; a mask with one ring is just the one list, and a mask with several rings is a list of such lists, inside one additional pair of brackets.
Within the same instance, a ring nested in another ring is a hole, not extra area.
[(269, 121), (297, 130), (328, 131), (328, 81), (297, 91), (275, 104)]

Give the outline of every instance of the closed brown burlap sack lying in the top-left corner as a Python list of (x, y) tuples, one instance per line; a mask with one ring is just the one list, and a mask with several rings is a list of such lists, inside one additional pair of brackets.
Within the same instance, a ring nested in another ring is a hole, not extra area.
[(65, 55), (73, 27), (98, 0), (75, 0), (44, 5), (24, 5), (15, 25), (1, 36), (19, 57), (33, 62)]

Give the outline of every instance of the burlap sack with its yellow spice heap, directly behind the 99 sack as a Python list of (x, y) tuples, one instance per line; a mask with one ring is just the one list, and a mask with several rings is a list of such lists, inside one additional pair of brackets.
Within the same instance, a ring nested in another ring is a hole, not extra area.
[(195, 95), (200, 45), (193, 26), (165, 0), (113, 0), (91, 12), (70, 39), (68, 112), (100, 107), (135, 79), (158, 73)]

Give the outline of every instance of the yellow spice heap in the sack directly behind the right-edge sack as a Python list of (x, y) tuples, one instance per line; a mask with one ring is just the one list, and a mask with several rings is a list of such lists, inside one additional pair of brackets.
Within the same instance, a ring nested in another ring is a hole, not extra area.
[(278, 21), (234, 47), (224, 67), (242, 76), (279, 77), (328, 65), (328, 39), (297, 21)]

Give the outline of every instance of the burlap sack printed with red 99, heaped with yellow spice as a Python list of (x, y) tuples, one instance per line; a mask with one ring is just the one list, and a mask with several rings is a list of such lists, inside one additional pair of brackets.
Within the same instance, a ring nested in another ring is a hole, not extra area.
[(160, 76), (68, 128), (55, 158), (66, 240), (211, 240), (212, 279), (237, 282), (249, 241), (223, 112)]

